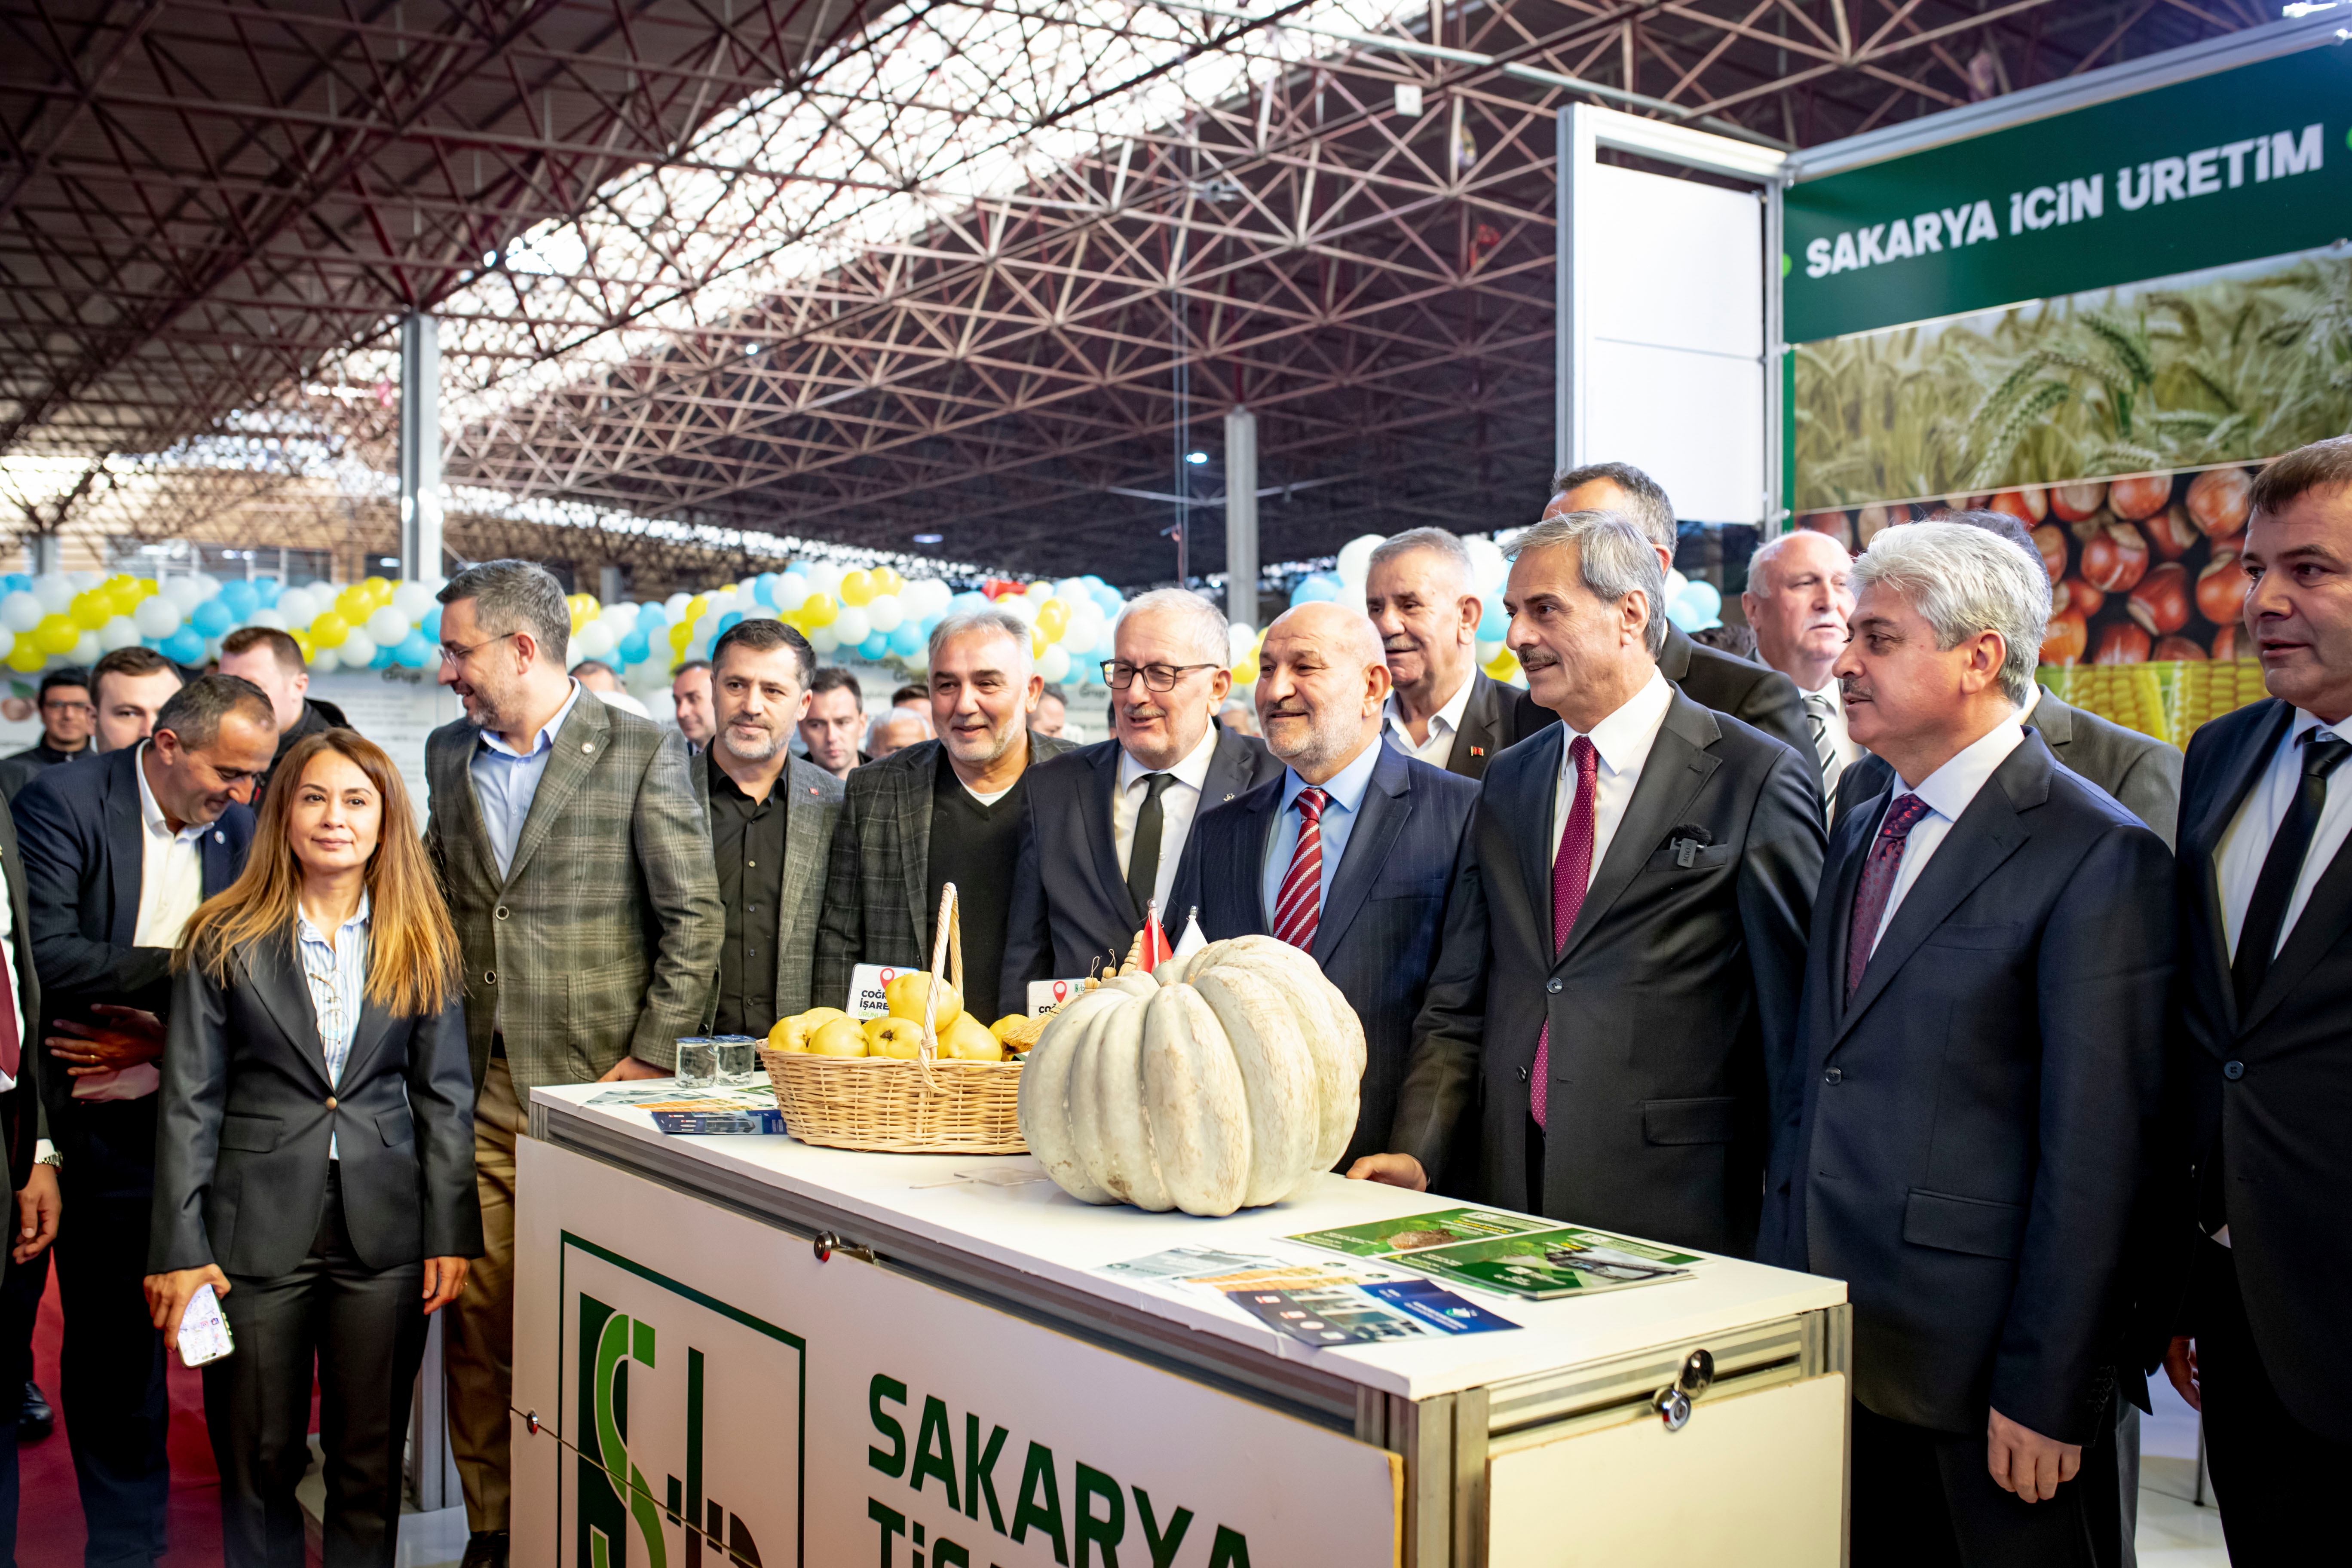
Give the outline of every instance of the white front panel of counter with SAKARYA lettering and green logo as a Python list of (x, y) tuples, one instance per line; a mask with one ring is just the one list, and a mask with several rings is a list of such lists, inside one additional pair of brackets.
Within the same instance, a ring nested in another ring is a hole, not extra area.
[(1371, 1443), (555, 1145), (517, 1157), (515, 1561), (1397, 1561), (1402, 1469)]

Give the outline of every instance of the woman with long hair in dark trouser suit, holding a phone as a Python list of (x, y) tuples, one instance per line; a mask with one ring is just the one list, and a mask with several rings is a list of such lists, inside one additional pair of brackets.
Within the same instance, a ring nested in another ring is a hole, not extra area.
[(381, 748), (308, 736), (278, 780), (176, 954), (146, 1288), (174, 1349), (205, 1284), (235, 1335), (205, 1366), (228, 1568), (301, 1568), (313, 1368), (327, 1568), (388, 1568), (426, 1314), (482, 1253), (456, 931)]

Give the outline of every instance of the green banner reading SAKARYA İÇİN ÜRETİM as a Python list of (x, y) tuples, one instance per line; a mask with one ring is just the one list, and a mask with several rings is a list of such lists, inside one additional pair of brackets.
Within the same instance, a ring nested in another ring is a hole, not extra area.
[(2326, 247), (2347, 125), (2352, 49), (2317, 47), (1802, 181), (1788, 341)]

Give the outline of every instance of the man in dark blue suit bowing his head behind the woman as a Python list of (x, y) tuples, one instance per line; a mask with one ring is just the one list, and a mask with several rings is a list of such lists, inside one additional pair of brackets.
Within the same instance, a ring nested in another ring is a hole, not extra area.
[[(172, 693), (155, 731), (12, 802), (49, 1060), (40, 1093), (73, 1222), (56, 1244), (66, 1309), (66, 1434), (89, 1563), (165, 1549), (172, 1469), (162, 1333), (148, 1319), (155, 1070), (172, 950), (195, 907), (245, 870), (254, 780), (278, 752), (266, 691), (207, 675)], [(0, 1056), (7, 1046), (0, 1018)]]

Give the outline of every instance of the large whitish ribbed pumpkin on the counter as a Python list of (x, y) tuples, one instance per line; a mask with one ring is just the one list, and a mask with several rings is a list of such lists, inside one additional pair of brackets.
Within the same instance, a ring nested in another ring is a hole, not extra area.
[(1315, 959), (1209, 943), (1063, 1006), (1021, 1070), (1021, 1135), (1087, 1204), (1223, 1215), (1348, 1152), (1364, 1025)]

